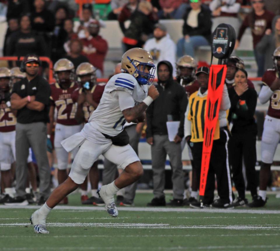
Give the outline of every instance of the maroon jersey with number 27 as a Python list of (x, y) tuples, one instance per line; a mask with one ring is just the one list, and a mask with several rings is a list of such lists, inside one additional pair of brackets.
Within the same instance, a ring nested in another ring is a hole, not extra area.
[(73, 101), (72, 95), (74, 90), (78, 87), (74, 82), (71, 86), (64, 90), (60, 88), (58, 83), (50, 85), (52, 105), (57, 108), (56, 122), (62, 125), (78, 125), (75, 114), (77, 111), (77, 104)]

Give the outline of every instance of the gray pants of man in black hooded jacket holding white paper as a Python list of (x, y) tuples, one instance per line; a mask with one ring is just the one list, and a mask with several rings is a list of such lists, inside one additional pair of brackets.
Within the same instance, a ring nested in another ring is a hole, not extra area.
[(183, 199), (185, 186), (181, 144), (170, 142), (168, 135), (153, 135), (151, 151), (154, 196), (157, 198), (164, 196), (165, 161), (168, 154), (172, 168), (173, 198)]

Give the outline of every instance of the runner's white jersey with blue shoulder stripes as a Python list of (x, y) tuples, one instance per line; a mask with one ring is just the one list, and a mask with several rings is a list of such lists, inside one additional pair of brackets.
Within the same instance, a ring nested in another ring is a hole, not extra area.
[[(141, 103), (148, 95), (148, 86), (140, 85), (128, 73), (119, 73), (111, 77), (105, 86), (97, 109), (91, 114), (88, 123), (101, 133), (110, 136), (118, 135), (126, 122), (119, 106), (118, 94), (115, 90), (126, 91), (132, 95), (135, 104)], [(83, 130), (87, 130), (89, 126)], [(88, 135), (88, 132), (86, 132)]]

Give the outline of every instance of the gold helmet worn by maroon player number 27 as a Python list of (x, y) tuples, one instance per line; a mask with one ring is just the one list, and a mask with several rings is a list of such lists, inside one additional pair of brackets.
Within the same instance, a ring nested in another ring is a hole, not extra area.
[[(53, 70), (55, 72), (54, 77), (60, 86), (61, 84), (71, 84), (71, 82), (74, 81), (75, 78), (74, 64), (67, 58), (62, 58), (58, 60), (53, 66)], [(58, 76), (59, 72), (69, 72), (70, 73), (69, 78), (68, 77), (59, 78)]]

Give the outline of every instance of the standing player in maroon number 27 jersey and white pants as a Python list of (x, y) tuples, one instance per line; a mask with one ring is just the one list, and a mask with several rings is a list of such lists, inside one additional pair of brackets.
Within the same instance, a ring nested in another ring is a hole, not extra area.
[[(48, 138), (50, 138), (53, 123), (55, 125), (54, 147), (57, 156), (57, 180), (58, 184), (67, 179), (68, 152), (62, 147), (60, 142), (78, 133), (82, 129), (82, 124), (75, 119), (77, 105), (73, 102), (72, 93), (78, 87), (74, 82), (74, 65), (73, 63), (62, 58), (54, 65), (56, 83), (51, 85), (51, 106), (50, 106), (50, 123), (48, 124)], [(56, 118), (55, 108), (57, 109)], [(73, 149), (75, 157), (78, 148)], [(67, 197), (62, 198), (63, 204), (68, 204)]]

